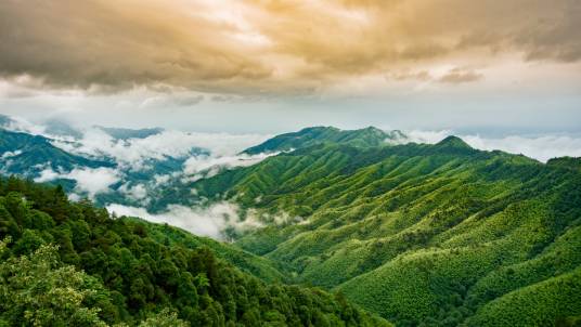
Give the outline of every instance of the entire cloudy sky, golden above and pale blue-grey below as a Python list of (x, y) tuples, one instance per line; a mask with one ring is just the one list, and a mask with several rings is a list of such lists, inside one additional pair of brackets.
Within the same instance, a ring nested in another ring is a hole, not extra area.
[(577, 0), (4, 0), (0, 114), (280, 133), (581, 133)]

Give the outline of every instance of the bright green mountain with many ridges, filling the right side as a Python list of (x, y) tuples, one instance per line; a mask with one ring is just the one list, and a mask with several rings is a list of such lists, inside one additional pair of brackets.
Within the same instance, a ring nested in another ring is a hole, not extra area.
[(455, 136), (315, 142), (192, 187), (259, 212), (240, 248), (398, 326), (567, 326), (581, 315), (580, 168)]

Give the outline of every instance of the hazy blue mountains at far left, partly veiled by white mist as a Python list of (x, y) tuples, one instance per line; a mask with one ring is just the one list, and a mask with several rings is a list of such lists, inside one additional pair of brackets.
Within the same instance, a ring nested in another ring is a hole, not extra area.
[[(0, 116), (0, 126), (10, 128), (13, 123), (14, 120), (10, 117)], [(127, 141), (127, 138), (147, 138), (162, 131), (162, 129), (130, 130), (103, 127), (100, 129), (113, 138), (121, 140), (119, 146), (124, 145), (121, 143)], [(135, 187), (144, 189), (152, 198), (156, 198), (160, 196), (158, 194), (164, 194), (164, 189), (159, 189), (155, 175), (172, 176), (176, 173), (179, 174), (183, 171), (183, 165), (188, 159), (209, 156), (209, 151), (192, 147), (179, 156), (152, 154), (152, 157), (144, 157), (139, 162), (140, 165), (129, 165), (128, 162), (118, 162), (115, 157), (104, 153), (88, 155), (79, 152), (76, 154), (75, 148), (83, 146), (79, 139), (81, 133), (65, 122), (48, 121), (44, 126), (44, 132), (57, 138), (59, 142), (42, 135), (0, 129), (0, 173), (62, 184), (67, 192), (75, 192), (80, 197), (90, 196), (90, 194), (85, 192), (83, 187), (77, 187), (79, 182), (82, 183), (79, 179), (87, 179), (90, 183), (92, 174), (114, 173), (117, 181), (109, 185), (106, 192), (93, 195), (92, 199), (101, 206), (111, 202), (142, 206), (143, 199), (135, 199), (134, 196), (131, 196), (131, 189), (135, 189)], [(67, 139), (61, 139), (61, 136)], [(70, 174), (75, 169), (78, 170), (78, 173)]]

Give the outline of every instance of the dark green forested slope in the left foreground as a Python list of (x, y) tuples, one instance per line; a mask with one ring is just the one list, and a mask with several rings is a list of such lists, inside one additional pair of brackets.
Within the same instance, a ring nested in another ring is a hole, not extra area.
[(268, 260), (0, 180), (0, 326), (390, 326)]

